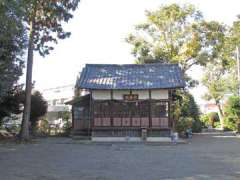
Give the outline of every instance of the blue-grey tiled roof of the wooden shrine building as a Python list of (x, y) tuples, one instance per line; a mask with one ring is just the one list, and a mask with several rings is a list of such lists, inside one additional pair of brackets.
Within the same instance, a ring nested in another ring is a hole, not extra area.
[(177, 64), (87, 64), (76, 87), (82, 89), (166, 89), (185, 86)]

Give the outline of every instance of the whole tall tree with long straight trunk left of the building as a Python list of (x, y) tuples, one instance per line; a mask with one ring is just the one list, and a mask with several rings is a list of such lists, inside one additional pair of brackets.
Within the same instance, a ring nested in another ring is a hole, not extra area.
[(53, 43), (65, 39), (70, 32), (64, 31), (63, 22), (68, 22), (80, 0), (22, 0), (24, 20), (28, 25), (28, 56), (26, 74), (26, 99), (20, 137), (29, 139), (28, 121), (31, 110), (33, 51), (41, 56), (49, 54)]

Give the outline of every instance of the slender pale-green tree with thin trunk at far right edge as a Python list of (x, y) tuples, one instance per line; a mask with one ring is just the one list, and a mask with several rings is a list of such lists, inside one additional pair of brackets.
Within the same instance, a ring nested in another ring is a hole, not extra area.
[(208, 92), (204, 98), (214, 100), (219, 109), (221, 128), (224, 129), (224, 114), (222, 102), (226, 93), (237, 94), (239, 83), (237, 82), (236, 45), (240, 42), (240, 21), (234, 22), (228, 27), (225, 36), (219, 36), (216, 41), (213, 61), (207, 64), (202, 83)]

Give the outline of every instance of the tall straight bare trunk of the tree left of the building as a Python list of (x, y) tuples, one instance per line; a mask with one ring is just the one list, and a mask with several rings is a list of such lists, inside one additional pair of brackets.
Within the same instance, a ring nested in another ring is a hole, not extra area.
[(29, 119), (31, 112), (31, 92), (32, 92), (32, 68), (33, 68), (33, 32), (34, 22), (30, 22), (29, 42), (28, 42), (28, 57), (27, 57), (27, 74), (26, 74), (26, 89), (25, 102), (23, 111), (23, 120), (21, 124), (20, 138), (21, 140), (29, 140)]

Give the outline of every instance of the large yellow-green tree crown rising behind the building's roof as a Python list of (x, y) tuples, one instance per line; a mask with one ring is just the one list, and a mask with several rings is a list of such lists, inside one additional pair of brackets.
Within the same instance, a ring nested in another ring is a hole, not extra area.
[(146, 16), (126, 39), (137, 63), (179, 63), (185, 73), (211, 61), (224, 37), (225, 27), (204, 21), (193, 5), (162, 6)]

